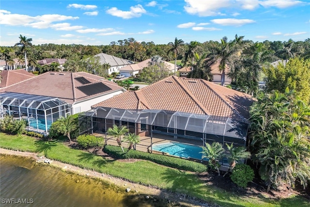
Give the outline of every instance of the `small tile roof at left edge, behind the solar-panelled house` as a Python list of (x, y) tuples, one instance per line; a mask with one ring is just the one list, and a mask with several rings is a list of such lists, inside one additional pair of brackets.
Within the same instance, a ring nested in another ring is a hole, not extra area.
[(24, 69), (1, 70), (0, 74), (2, 77), (2, 80), (0, 81), (0, 88), (8, 87), (10, 85), (30, 79), (35, 76)]

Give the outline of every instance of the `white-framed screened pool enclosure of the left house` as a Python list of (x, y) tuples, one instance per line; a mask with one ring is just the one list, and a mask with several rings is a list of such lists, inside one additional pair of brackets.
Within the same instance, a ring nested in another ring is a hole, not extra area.
[(56, 97), (2, 93), (0, 105), (2, 118), (12, 115), (16, 119), (25, 119), (28, 130), (40, 133), (46, 133), (60, 117), (70, 115), (69, 104)]

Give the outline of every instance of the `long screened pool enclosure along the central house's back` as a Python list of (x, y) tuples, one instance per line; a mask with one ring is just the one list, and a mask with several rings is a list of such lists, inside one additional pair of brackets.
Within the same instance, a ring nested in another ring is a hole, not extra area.
[[(170, 135), (204, 143), (234, 143), (245, 146), (248, 124), (227, 117), (166, 110), (124, 110), (97, 107), (79, 115), (81, 134), (106, 133), (113, 125), (127, 126), (131, 133), (149, 136)], [(152, 141), (151, 141), (152, 150)]]

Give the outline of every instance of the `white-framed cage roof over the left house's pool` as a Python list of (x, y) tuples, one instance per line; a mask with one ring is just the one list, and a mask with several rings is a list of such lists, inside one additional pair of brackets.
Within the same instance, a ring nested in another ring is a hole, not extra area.
[(22, 107), (36, 110), (48, 110), (55, 107), (68, 105), (56, 97), (37, 96), (19, 93), (2, 93), (0, 94), (0, 104), (12, 107)]

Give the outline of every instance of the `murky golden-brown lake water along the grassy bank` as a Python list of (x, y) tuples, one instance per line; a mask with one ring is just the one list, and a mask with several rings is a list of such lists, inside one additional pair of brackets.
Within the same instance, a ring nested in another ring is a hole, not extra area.
[[(77, 182), (77, 180), (79, 182)], [(161, 207), (103, 181), (38, 165), (33, 159), (0, 156), (1, 207)], [(5, 204), (3, 199), (15, 199)], [(19, 201), (24, 204), (15, 204)], [(27, 204), (28, 203), (28, 204)]]

